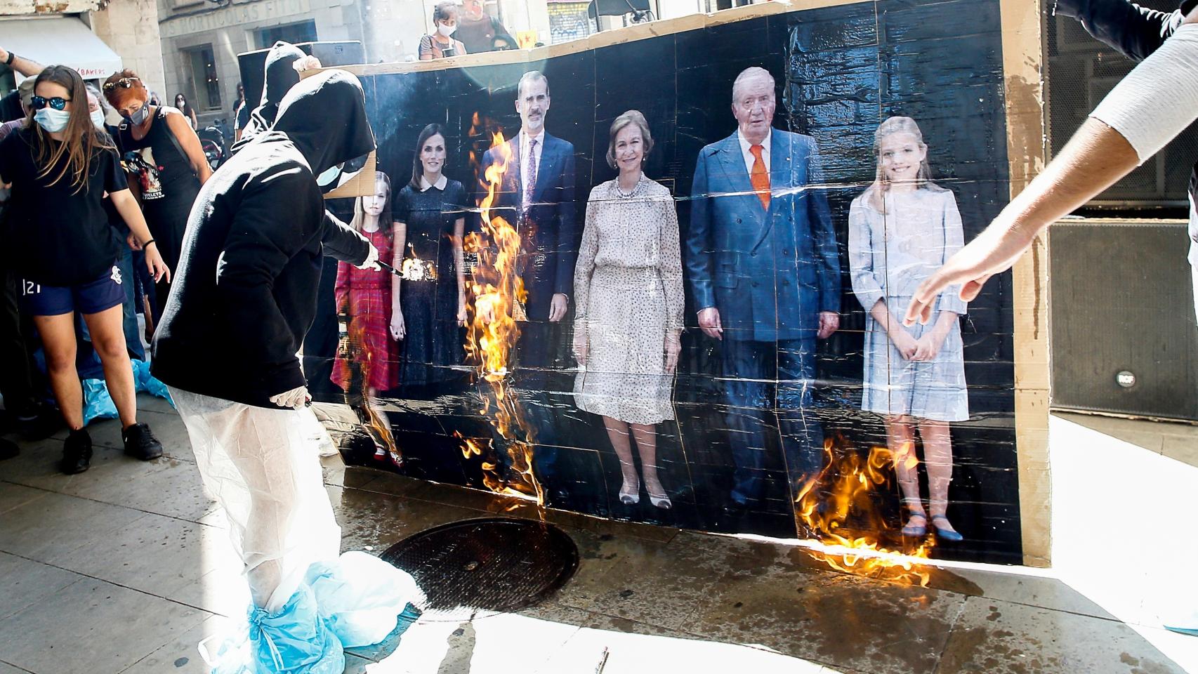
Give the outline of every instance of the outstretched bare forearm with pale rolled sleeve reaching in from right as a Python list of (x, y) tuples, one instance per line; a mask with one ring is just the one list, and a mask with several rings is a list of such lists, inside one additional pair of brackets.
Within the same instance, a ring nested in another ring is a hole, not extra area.
[(1198, 10), (1107, 96), (1064, 150), (915, 291), (906, 322), (928, 322), (937, 296), (961, 284), (969, 302), (1004, 272), (1037, 233), (1156, 154), (1198, 119)]

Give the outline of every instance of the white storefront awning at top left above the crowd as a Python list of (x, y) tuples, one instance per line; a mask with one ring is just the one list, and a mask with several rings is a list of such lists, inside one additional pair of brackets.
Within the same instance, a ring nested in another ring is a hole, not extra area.
[(43, 66), (71, 66), (83, 79), (104, 79), (121, 69), (121, 57), (75, 17), (0, 19), (0, 44)]

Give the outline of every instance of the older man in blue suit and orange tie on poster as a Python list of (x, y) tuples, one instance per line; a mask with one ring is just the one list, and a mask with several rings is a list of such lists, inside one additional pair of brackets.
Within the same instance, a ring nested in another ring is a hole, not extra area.
[(763, 497), (769, 407), (791, 484), (819, 470), (816, 340), (840, 327), (841, 279), (828, 201), (807, 189), (823, 180), (815, 140), (772, 127), (774, 78), (763, 68), (742, 72), (732, 99), (737, 132), (698, 153), (686, 267), (698, 324), (722, 341), (731, 499), (742, 509)]

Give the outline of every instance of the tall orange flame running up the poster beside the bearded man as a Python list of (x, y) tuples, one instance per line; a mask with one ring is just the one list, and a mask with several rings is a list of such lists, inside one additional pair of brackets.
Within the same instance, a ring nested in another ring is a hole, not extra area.
[[(474, 115), (474, 126), (479, 126), (478, 115)], [(491, 425), (506, 441), (510, 469), (504, 474), (495, 453), (488, 451), (482, 464), (483, 484), (496, 493), (536, 498), (538, 505), (544, 505), (545, 493), (532, 468), (532, 427), (508, 383), (508, 364), (520, 336), (518, 321), (525, 317), (527, 292), (516, 274), (520, 233), (503, 217), (491, 212), (512, 162), (512, 150), (502, 133), (492, 135), (491, 153), (494, 162), (484, 175), (486, 196), (479, 204), (483, 231), (471, 232), (465, 241), (465, 249), (478, 255), (470, 286), (472, 300), (466, 306), (466, 356), (490, 389), (490, 394), (483, 396), (482, 413), (490, 417)], [(484, 456), (477, 441), (462, 439), (462, 454), (467, 459)]]

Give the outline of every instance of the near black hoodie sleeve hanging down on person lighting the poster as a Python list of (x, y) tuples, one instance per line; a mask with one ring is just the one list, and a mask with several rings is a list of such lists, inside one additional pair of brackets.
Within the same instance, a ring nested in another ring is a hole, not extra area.
[(268, 395), (304, 385), (296, 358), (300, 345), (273, 291), (288, 262), (317, 233), (296, 225), (310, 215), (280, 213), (289, 210), (286, 204), (302, 202), (296, 196), (309, 192), (309, 183), (305, 171), (288, 164), (272, 166), (250, 181), (217, 262), (216, 297), (229, 322), (226, 334), (244, 335), (241, 353), (262, 374)]

